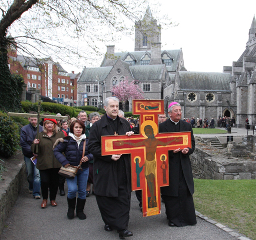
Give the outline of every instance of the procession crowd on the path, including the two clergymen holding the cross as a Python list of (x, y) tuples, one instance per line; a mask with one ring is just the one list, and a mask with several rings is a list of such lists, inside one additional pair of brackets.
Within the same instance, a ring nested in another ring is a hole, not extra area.
[[(21, 146), (27, 166), (29, 191), (35, 199), (41, 199), (41, 207), (57, 206), (58, 187), (60, 195), (65, 195), (64, 183), (67, 182), (67, 217), (76, 215), (86, 219), (84, 211), (86, 197), (91, 193), (96, 201), (104, 222), (104, 229), (117, 229), (119, 237), (132, 236), (128, 229), (131, 207), (131, 156), (130, 154), (101, 155), (102, 135), (131, 136), (140, 133), (140, 120), (131, 116), (124, 118), (124, 112), (118, 109), (119, 100), (108, 97), (104, 102), (105, 114), (92, 112), (87, 117), (80, 111), (77, 118), (56, 120), (42, 119), (37, 135), (37, 118), (29, 117), (29, 124), (21, 129)], [(35, 113), (35, 112), (30, 112)], [(59, 113), (57, 115), (60, 115)], [(172, 102), (166, 114), (158, 115), (159, 132), (191, 131), (192, 127), (202, 126), (202, 119), (195, 121), (181, 119), (182, 110), (178, 102)], [(201, 123), (200, 123), (201, 120)], [(146, 132), (146, 129), (145, 129)], [(147, 144), (155, 141), (152, 129), (147, 129)], [(161, 187), (163, 201), (169, 226), (186, 226), (196, 224), (193, 203), (194, 183), (189, 155), (195, 148), (192, 133), (192, 147), (169, 151), (169, 186)], [(149, 147), (150, 147), (149, 145)], [(155, 162), (155, 156), (145, 162)], [(31, 159), (37, 159), (36, 164)], [(75, 167), (74, 178), (64, 178), (58, 174), (60, 168)], [(80, 168), (81, 167), (81, 168)], [(155, 168), (145, 165), (146, 172)], [(145, 177), (147, 177), (145, 175)], [(91, 189), (92, 187), (92, 189)], [(41, 188), (41, 193), (40, 193)], [(139, 205), (142, 207), (142, 191), (136, 191)], [(152, 203), (155, 206), (155, 202)]]

